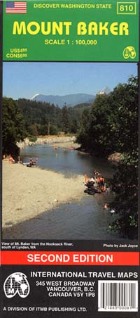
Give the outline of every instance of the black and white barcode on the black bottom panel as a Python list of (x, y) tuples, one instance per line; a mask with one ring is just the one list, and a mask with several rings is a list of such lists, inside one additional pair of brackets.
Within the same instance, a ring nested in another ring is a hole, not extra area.
[(98, 281), (99, 312), (137, 312), (138, 281)]

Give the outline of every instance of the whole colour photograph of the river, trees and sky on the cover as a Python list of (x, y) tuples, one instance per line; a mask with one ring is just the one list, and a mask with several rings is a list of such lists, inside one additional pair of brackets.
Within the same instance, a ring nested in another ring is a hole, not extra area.
[(137, 239), (136, 63), (3, 63), (3, 239)]

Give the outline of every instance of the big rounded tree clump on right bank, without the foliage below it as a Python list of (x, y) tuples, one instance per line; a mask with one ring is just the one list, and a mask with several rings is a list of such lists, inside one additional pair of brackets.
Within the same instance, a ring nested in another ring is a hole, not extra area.
[(90, 115), (82, 117), (78, 142), (95, 155), (130, 151), (137, 146), (137, 79), (119, 84), (109, 95), (97, 95)]

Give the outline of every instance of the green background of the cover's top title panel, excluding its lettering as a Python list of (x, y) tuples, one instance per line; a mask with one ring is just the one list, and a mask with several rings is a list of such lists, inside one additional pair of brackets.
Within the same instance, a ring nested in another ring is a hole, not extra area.
[[(21, 0), (20, 0), (21, 1)], [(27, 1), (27, 14), (9, 14), (6, 13), (6, 1), (3, 1), (3, 61), (139, 61), (139, 1), (137, 0), (137, 15), (117, 15), (117, 2), (112, 1)], [(112, 9), (62, 9), (62, 8), (34, 8), (34, 4), (56, 3), (56, 4), (112, 4)], [(71, 21), (69, 35), (13, 35), (13, 22), (17, 20), (26, 23), (36, 21)], [(85, 23), (95, 22), (126, 22), (129, 23), (129, 36), (94, 36), (94, 35), (77, 35), (76, 25), (78, 22)], [(75, 42), (76, 39), (97, 39), (97, 45), (45, 45), (45, 39), (69, 39)], [(123, 58), (123, 50), (126, 46), (134, 46), (137, 52), (133, 60)], [(13, 48), (27, 48), (27, 58), (7, 58)]]

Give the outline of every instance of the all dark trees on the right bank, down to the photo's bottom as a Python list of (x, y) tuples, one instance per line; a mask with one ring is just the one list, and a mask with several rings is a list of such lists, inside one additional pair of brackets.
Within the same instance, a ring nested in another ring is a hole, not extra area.
[(93, 155), (123, 154), (113, 177), (116, 198), (111, 204), (118, 218), (110, 229), (130, 239), (138, 227), (138, 79), (131, 77), (109, 95), (97, 96), (84, 110), (78, 143)]

